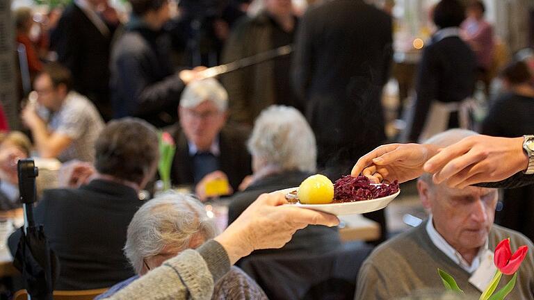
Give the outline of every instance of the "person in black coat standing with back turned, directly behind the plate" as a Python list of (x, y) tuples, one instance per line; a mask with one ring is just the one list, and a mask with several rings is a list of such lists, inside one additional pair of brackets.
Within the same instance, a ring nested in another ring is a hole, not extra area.
[(318, 167), (348, 174), (385, 141), (382, 87), (389, 77), (391, 17), (362, 0), (309, 8), (300, 22), (292, 78), (317, 138)]

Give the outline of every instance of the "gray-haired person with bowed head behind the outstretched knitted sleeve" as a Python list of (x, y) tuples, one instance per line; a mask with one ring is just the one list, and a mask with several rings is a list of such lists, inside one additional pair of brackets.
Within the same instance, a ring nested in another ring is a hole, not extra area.
[[(216, 226), (204, 206), (186, 194), (162, 194), (145, 203), (131, 219), (124, 254), (137, 275), (114, 285), (97, 297), (104, 299), (126, 287), (139, 276), (159, 267), (185, 249), (196, 249), (215, 238)], [(247, 274), (232, 267), (215, 285), (211, 299), (267, 299)]]

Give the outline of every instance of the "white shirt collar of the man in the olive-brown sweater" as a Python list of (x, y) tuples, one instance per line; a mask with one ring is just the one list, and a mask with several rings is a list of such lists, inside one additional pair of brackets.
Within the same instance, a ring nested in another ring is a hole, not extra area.
[(440, 235), (436, 231), (436, 228), (434, 228), (434, 224), (432, 224), (432, 215), (428, 217), (428, 222), (426, 223), (426, 232), (428, 233), (430, 240), (432, 240), (432, 243), (434, 243), (437, 249), (445, 253), (448, 258), (451, 258), (451, 260), (453, 260), (453, 262), (462, 267), (462, 269), (466, 270), (471, 274), (475, 272), (478, 267), (480, 267), (480, 260), (482, 259), (482, 255), (488, 247), (487, 239), (484, 247), (480, 247), (480, 249), (478, 249), (478, 253), (473, 259), (473, 262), (471, 263), (471, 265), (469, 265), (469, 263), (467, 263), (467, 260), (465, 260), (463, 256), (458, 251), (456, 251), (456, 249), (454, 249), (450, 244), (448, 244), (448, 242), (442, 237), (442, 235)]

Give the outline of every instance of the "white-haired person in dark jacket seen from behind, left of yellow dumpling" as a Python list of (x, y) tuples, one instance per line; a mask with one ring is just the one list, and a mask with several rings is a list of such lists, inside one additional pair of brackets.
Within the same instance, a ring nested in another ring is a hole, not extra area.
[[(252, 171), (248, 187), (234, 194), (230, 201), (228, 223), (243, 213), (264, 192), (293, 188), (316, 170), (316, 142), (302, 114), (289, 106), (270, 106), (261, 112), (248, 140)], [(308, 226), (297, 231), (282, 249), (261, 253), (307, 251), (324, 253), (339, 244), (337, 228)], [(254, 253), (259, 253), (256, 251)]]

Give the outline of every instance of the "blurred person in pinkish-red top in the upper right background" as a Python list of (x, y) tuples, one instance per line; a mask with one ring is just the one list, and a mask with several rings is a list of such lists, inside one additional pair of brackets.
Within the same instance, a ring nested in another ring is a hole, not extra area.
[(476, 54), (478, 75), (484, 78), (492, 67), (494, 55), (493, 27), (484, 18), (486, 7), (483, 1), (473, 0), (467, 4), (467, 19), (462, 23), (462, 38), (471, 46)]

